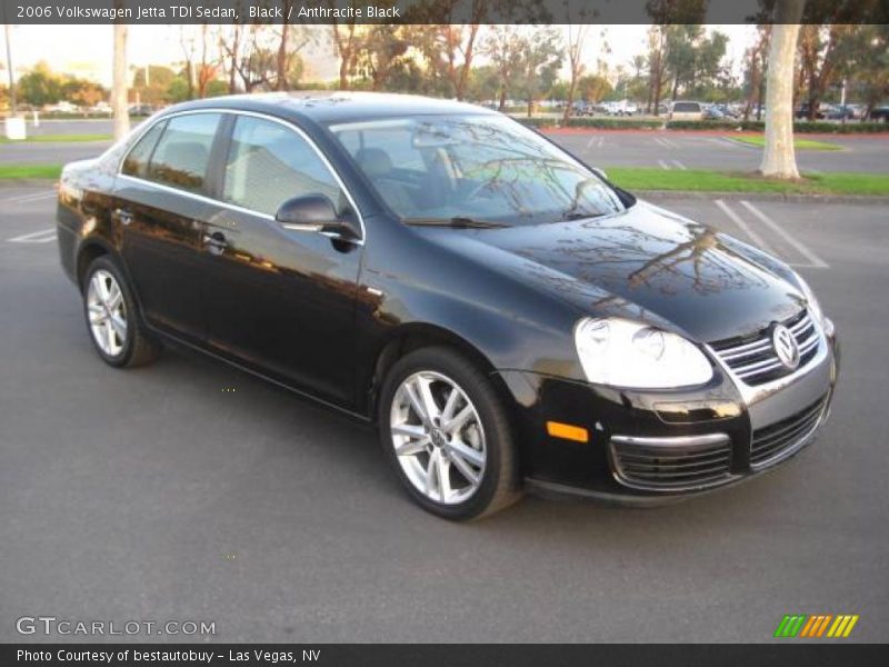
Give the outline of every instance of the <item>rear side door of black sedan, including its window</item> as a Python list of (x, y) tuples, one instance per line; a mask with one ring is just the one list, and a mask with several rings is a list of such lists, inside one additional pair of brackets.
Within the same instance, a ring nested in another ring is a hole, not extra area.
[(221, 120), (187, 113), (149, 129), (123, 160), (112, 213), (144, 318), (192, 341), (206, 337), (199, 251)]

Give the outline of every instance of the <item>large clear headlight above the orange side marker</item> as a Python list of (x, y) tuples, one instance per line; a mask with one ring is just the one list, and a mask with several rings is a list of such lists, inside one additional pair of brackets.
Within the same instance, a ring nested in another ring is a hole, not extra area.
[(575, 344), (587, 380), (635, 389), (703, 385), (713, 377), (707, 357), (676, 334), (618, 318), (580, 320)]

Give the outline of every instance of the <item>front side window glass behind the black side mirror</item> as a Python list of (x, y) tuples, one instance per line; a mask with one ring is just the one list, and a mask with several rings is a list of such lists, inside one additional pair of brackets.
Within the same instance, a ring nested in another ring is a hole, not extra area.
[(347, 199), (312, 147), (281, 123), (240, 116), (226, 160), (222, 198), (273, 216), (288, 199), (324, 195), (342, 213)]

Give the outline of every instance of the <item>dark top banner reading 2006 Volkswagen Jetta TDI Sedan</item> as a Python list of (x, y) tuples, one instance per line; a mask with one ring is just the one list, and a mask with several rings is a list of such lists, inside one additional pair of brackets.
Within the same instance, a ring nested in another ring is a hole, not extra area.
[[(805, 23), (886, 23), (889, 0), (805, 0)], [(768, 23), (776, 0), (3, 0), (6, 23)]]

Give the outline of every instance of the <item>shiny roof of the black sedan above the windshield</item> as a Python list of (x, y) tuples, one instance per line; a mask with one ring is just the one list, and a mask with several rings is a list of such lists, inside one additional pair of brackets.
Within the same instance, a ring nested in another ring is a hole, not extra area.
[(293, 91), (234, 94), (174, 104), (164, 113), (232, 109), (319, 123), (419, 115), (495, 115), (485, 107), (414, 94), (354, 91)]

